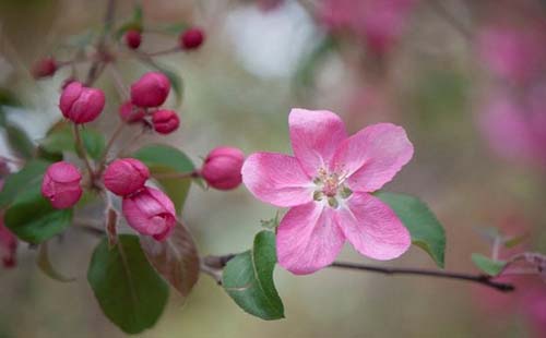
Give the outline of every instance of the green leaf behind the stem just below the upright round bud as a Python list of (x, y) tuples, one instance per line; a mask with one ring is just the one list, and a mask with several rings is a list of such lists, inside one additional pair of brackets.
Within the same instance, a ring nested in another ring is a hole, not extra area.
[[(92, 129), (82, 130), (81, 134), (87, 154), (91, 158), (98, 159), (106, 147), (104, 135)], [(69, 125), (57, 126), (41, 141), (40, 147), (50, 154), (62, 154), (64, 152), (76, 154), (72, 129)]]

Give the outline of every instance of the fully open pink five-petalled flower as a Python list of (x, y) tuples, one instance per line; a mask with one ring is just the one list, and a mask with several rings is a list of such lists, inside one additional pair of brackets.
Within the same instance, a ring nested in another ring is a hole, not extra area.
[(278, 264), (302, 275), (330, 265), (345, 240), (363, 255), (391, 259), (411, 244), (394, 212), (370, 195), (410, 161), (405, 131), (373, 124), (347, 136), (335, 113), (293, 109), (288, 118), (295, 156), (250, 155), (242, 182), (259, 200), (290, 207), (277, 228)]

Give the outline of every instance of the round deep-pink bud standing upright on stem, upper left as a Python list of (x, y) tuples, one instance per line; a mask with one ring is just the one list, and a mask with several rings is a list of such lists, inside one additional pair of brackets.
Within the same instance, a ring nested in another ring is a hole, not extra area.
[(62, 90), (59, 107), (67, 119), (81, 124), (95, 120), (103, 111), (104, 104), (103, 90), (84, 87), (74, 81)]

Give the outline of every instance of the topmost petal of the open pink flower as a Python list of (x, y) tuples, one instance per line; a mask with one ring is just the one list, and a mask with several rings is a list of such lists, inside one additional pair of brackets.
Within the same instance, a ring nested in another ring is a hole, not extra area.
[(288, 125), (294, 155), (310, 177), (329, 166), (340, 143), (347, 138), (342, 119), (328, 110), (292, 109)]

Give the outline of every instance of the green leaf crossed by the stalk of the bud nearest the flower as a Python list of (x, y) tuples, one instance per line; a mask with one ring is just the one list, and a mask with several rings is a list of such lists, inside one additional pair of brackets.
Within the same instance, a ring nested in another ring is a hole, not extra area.
[[(152, 177), (185, 174), (195, 170), (193, 162), (186, 154), (167, 145), (144, 146), (136, 150), (133, 157), (149, 167)], [(156, 180), (175, 203), (177, 213), (180, 214), (190, 190), (191, 177), (157, 178)]]

